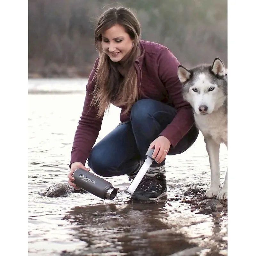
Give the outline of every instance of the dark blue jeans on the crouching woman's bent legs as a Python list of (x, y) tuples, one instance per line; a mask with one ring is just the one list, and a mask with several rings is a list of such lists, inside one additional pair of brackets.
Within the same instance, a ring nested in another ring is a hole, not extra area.
[[(140, 159), (146, 159), (150, 143), (170, 124), (177, 110), (160, 101), (138, 100), (131, 109), (130, 121), (121, 123), (100, 140), (91, 150), (88, 165), (103, 177), (130, 174), (139, 166)], [(186, 151), (198, 136), (195, 125), (178, 142), (170, 147), (167, 155)], [(157, 165), (154, 161), (153, 165)], [(162, 163), (163, 164), (163, 163)]]

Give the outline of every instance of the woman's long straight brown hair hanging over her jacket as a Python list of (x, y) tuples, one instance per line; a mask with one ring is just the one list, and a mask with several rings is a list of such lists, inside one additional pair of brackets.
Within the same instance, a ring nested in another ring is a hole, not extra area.
[[(122, 63), (126, 70), (124, 79), (120, 77), (117, 69), (118, 64), (110, 60), (101, 46), (101, 34), (116, 24), (123, 26), (134, 42), (129, 56)], [(91, 105), (98, 108), (98, 117), (104, 115), (110, 107), (110, 103), (124, 106), (125, 113), (127, 113), (138, 99), (137, 73), (134, 61), (138, 57), (139, 51), (140, 23), (129, 9), (124, 7), (110, 8), (101, 14), (95, 28), (94, 39), (95, 46), (99, 50), (99, 63), (94, 75), (96, 86)]]

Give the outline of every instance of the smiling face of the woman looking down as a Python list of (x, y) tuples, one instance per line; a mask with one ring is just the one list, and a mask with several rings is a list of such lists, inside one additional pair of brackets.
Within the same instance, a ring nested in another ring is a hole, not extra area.
[(121, 25), (114, 25), (104, 31), (101, 37), (104, 52), (106, 52), (110, 60), (114, 62), (123, 60), (127, 53), (132, 50), (133, 40)]

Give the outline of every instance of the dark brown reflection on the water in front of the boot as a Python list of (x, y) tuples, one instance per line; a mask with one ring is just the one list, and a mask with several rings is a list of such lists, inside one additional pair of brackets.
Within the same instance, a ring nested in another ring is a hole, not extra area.
[(197, 246), (177, 230), (177, 221), (167, 221), (169, 212), (166, 202), (100, 204), (74, 207), (63, 219), (84, 241), (84, 255), (170, 255)]

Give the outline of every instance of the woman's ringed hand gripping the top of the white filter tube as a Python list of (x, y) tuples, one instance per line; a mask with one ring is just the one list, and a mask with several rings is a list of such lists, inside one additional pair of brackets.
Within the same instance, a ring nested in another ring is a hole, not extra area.
[(152, 157), (158, 164), (160, 164), (164, 161), (164, 158), (170, 149), (171, 142), (164, 136), (159, 136), (156, 140), (151, 142), (148, 149), (154, 148), (154, 146), (155, 150)]

